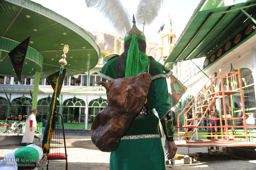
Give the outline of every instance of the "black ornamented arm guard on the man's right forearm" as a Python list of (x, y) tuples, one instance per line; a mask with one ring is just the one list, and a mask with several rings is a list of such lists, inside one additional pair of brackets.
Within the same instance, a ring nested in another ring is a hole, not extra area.
[[(174, 140), (174, 120), (175, 120), (175, 114), (172, 110), (168, 110), (166, 115), (160, 119), (160, 122), (163, 126), (164, 134), (166, 136), (167, 141), (173, 141)], [(175, 121), (176, 122), (176, 121)]]

